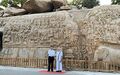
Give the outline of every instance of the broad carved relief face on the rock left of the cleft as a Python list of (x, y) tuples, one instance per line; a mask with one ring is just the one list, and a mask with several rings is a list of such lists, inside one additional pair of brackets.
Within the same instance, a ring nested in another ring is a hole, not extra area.
[[(34, 57), (41, 58), (46, 50), (63, 47), (63, 50), (78, 50), (78, 26), (65, 11), (8, 17), (4, 22), (3, 46), (19, 48), (19, 57), (31, 57), (29, 48), (36, 49)], [(44, 55), (46, 57), (46, 55)]]

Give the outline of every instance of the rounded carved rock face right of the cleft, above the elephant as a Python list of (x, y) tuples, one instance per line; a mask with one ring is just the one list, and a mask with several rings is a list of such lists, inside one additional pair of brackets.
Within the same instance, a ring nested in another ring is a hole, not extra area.
[[(93, 8), (85, 18), (79, 22), (80, 32), (87, 39), (86, 47), (91, 58), (100, 45), (113, 48), (113, 44), (120, 46), (120, 6), (100, 6)], [(115, 51), (116, 52), (116, 51)]]

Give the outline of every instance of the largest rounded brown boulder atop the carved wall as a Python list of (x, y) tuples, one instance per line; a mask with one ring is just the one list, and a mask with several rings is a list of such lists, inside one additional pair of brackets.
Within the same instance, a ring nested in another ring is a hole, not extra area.
[(29, 13), (42, 13), (53, 10), (51, 0), (27, 0), (23, 8)]

